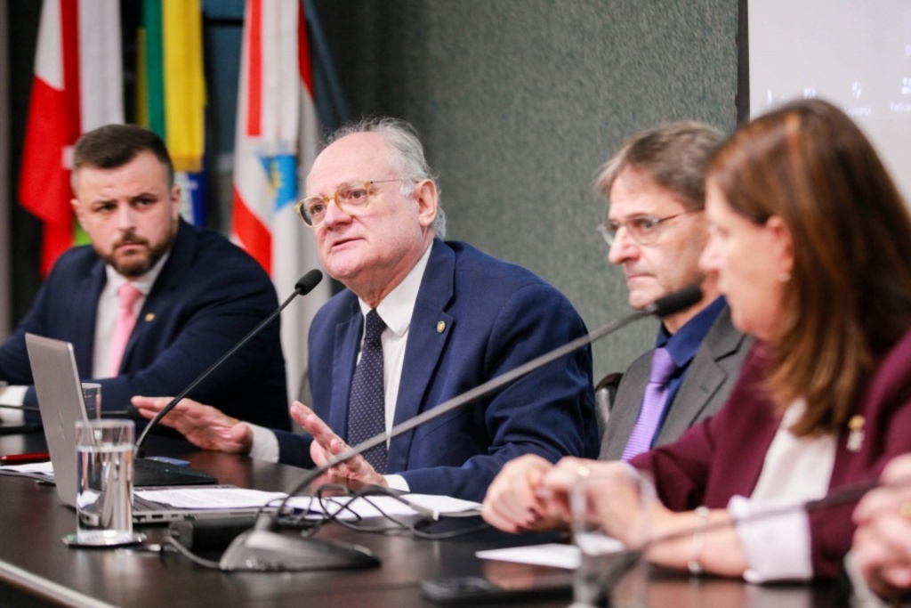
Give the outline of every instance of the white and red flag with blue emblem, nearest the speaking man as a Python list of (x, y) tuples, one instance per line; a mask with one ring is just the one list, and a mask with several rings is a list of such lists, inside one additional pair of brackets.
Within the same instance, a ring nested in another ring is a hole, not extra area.
[[(280, 300), (318, 266), (312, 231), (294, 214), (316, 155), (319, 128), (300, 0), (249, 0), (234, 143), (234, 237), (266, 272)], [(324, 281), (281, 318), (290, 397), (299, 394), (306, 329), (328, 298)]]

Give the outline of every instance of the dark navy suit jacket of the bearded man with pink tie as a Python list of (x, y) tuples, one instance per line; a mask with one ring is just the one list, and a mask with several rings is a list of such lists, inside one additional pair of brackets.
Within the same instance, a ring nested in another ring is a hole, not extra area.
[[(92, 372), (95, 317), (107, 282), (90, 246), (64, 253), (23, 322), (0, 346), (0, 379), (32, 385), (26, 332), (73, 343), (79, 374)], [(177, 238), (129, 337), (120, 374), (97, 380), (105, 410), (134, 395), (176, 395), (278, 306), (266, 273), (227, 239), (180, 221)], [(231, 416), (290, 428), (279, 324), (264, 328), (189, 397)], [(29, 386), (26, 406), (37, 405)]]

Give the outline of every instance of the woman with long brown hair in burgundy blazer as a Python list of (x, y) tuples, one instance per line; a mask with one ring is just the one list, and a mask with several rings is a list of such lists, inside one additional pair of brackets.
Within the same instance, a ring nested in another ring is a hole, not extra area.
[[(832, 577), (854, 505), (801, 505), (911, 449), (911, 219), (860, 129), (816, 99), (735, 132), (706, 187), (701, 264), (757, 343), (717, 416), (631, 461), (658, 490), (651, 538), (669, 539), (648, 555), (756, 582)], [(562, 460), (551, 508), (566, 513), (578, 469), (622, 466)], [(617, 499), (598, 500), (622, 537)]]

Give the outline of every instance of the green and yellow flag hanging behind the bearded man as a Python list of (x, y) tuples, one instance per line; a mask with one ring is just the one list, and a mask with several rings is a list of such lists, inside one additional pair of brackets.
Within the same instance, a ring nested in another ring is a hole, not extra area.
[(164, 139), (180, 185), (180, 212), (203, 225), (206, 85), (200, 0), (143, 0), (137, 46), (137, 122)]

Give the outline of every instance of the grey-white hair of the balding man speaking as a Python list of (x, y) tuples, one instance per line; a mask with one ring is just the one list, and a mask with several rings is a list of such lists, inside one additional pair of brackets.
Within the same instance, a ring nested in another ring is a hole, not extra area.
[[(344, 124), (326, 139), (326, 145), (354, 133), (379, 133), (386, 145), (392, 150), (389, 164), (402, 179), (402, 194), (409, 196), (415, 191), (415, 182), (431, 180), (436, 183), (436, 176), (430, 170), (424, 156), (424, 145), (417, 138), (417, 130), (404, 119), (380, 117), (361, 119)], [(439, 185), (437, 185), (437, 191)], [(446, 215), (442, 205), (437, 201), (436, 217), (431, 225), (436, 236), (445, 239)]]

